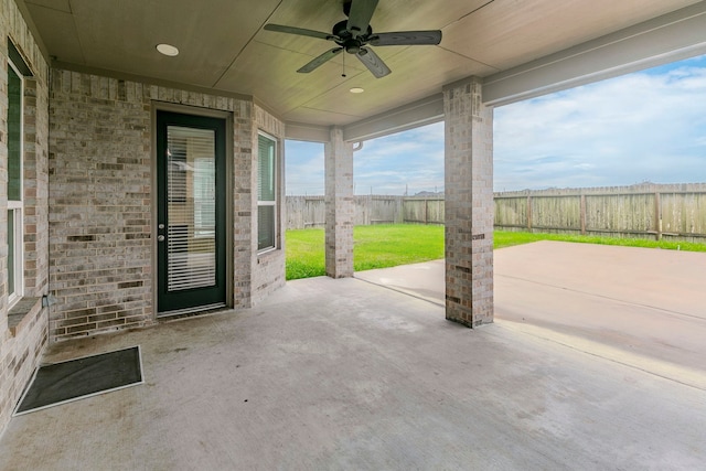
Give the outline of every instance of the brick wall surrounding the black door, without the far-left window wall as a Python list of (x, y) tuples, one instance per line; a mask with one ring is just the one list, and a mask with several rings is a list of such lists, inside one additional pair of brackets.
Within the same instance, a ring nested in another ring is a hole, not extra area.
[(55, 69), (50, 101), (53, 340), (156, 321), (151, 238), (156, 103), (233, 113), (232, 303), (247, 308), (254, 293), (281, 285), (284, 256), (257, 258), (253, 224), (254, 136), (258, 126), (284, 136), (281, 122), (264, 110), (254, 119), (250, 100)]

